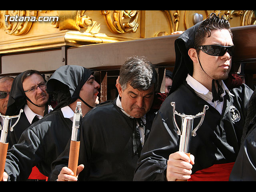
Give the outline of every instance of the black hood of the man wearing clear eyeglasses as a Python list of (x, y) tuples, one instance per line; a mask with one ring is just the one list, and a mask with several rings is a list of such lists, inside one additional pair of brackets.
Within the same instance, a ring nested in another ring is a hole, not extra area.
[[(26, 94), (24, 93), (23, 86), (22, 86), (22, 76), (26, 72), (27, 71), (24, 71), (18, 74), (12, 82), (12, 88), (10, 91), (10, 96), (8, 100), (7, 110), (6, 110), (6, 115), (8, 116), (18, 115), (20, 113), (20, 109), (23, 109), (24, 105), (27, 103), (27, 100), (29, 100), (26, 97)], [(44, 79), (44, 81), (46, 81), (44, 76), (42, 76), (42, 78)], [(45, 107), (46, 107), (45, 113), (47, 114), (48, 104), (46, 104)]]

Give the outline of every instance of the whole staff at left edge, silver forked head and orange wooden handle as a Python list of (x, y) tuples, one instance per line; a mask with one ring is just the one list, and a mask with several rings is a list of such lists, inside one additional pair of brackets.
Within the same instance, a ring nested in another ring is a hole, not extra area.
[[(20, 110), (20, 114), (23, 112), (23, 109)], [(13, 127), (18, 123), (20, 119), (20, 114), (16, 116), (4, 116), (0, 114), (3, 119), (2, 126), (0, 125), (1, 138), (0, 138), (0, 181), (3, 179), (4, 174), (4, 166), (6, 161), (6, 155), (8, 150), (8, 140), (9, 140), (9, 133), (13, 131)], [(12, 124), (12, 118), (18, 118), (16, 122)]]

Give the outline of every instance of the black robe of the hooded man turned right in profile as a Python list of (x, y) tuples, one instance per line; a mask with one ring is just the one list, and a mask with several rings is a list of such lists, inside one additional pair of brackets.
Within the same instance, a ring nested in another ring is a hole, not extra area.
[(52, 112), (27, 128), (8, 150), (5, 172), (11, 181), (25, 181), (37, 166), (45, 176), (51, 163), (63, 152), (71, 136), (72, 121), (61, 110)]

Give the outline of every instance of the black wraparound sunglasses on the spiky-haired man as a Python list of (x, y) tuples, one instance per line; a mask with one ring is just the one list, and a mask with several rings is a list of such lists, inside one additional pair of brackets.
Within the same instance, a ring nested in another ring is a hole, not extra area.
[(198, 49), (202, 50), (208, 55), (212, 56), (223, 56), (226, 52), (230, 56), (234, 55), (234, 48), (235, 46), (222, 46), (222, 45), (202, 45), (199, 46)]

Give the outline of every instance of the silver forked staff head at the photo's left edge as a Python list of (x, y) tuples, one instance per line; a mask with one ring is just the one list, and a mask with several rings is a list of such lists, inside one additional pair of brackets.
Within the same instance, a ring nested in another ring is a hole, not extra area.
[[(23, 112), (23, 109), (20, 110), (20, 114)], [(20, 120), (20, 114), (15, 115), (15, 116), (5, 116), (0, 114), (0, 116), (2, 117), (3, 121), (2, 121), (2, 126), (0, 125), (0, 130), (2, 130), (1, 132), (1, 138), (0, 138), (0, 142), (1, 143), (8, 143), (8, 138), (9, 138), (9, 133), (10, 131), (13, 131), (14, 126), (18, 123), (18, 121)], [(16, 122), (11, 126), (12, 124), (12, 119), (13, 118), (18, 118), (16, 120)]]

